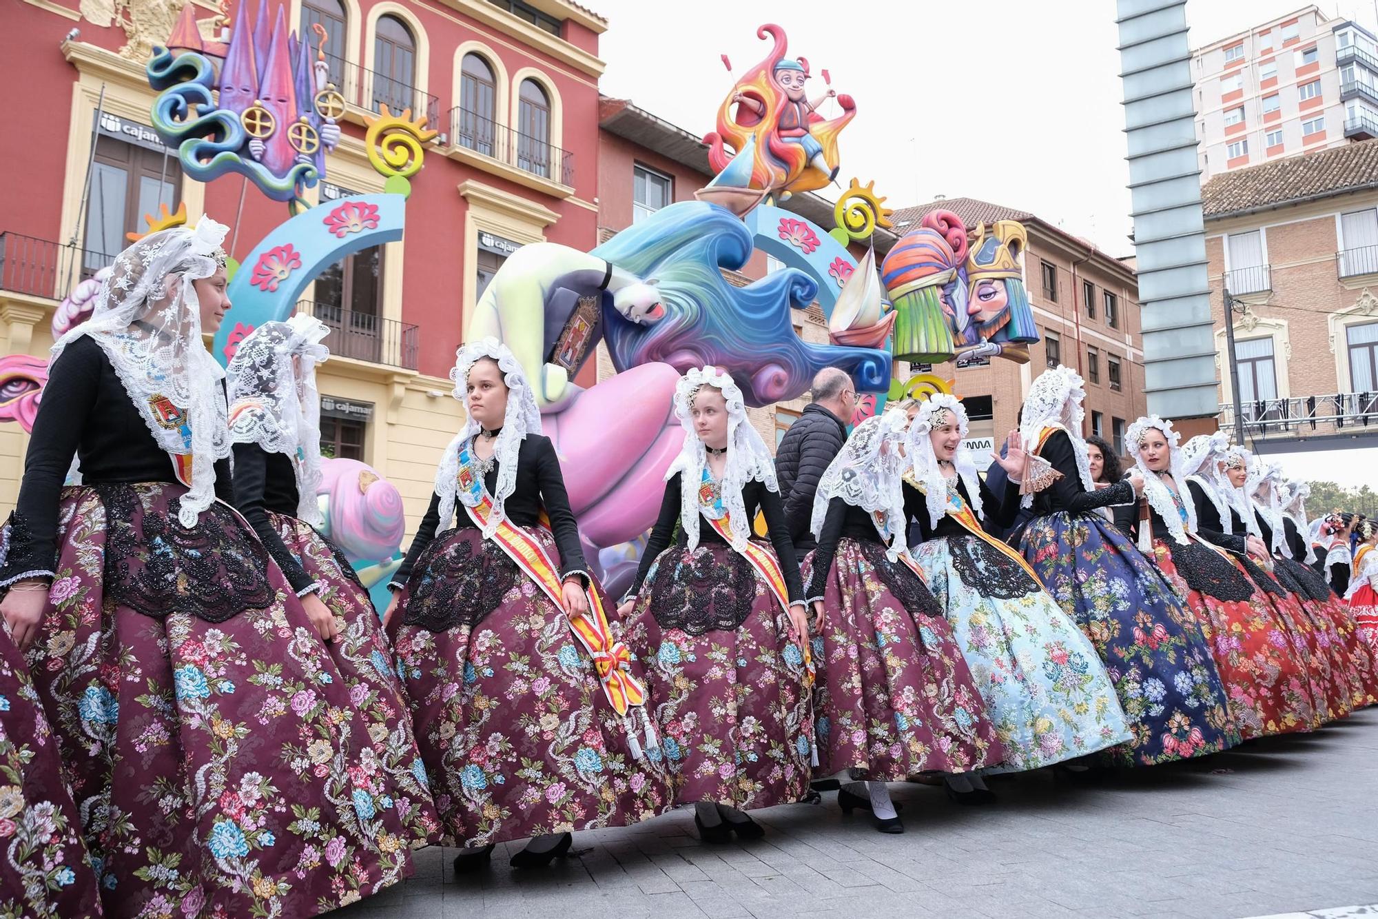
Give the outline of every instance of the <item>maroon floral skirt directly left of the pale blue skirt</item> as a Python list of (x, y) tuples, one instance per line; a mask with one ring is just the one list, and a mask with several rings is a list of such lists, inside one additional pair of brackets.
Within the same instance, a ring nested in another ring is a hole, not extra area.
[(952, 626), (883, 545), (839, 540), (823, 604), (823, 629), (812, 639), (820, 777), (854, 769), (861, 778), (904, 781), (1006, 759)]

